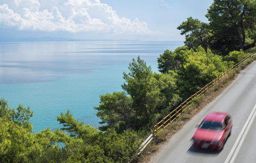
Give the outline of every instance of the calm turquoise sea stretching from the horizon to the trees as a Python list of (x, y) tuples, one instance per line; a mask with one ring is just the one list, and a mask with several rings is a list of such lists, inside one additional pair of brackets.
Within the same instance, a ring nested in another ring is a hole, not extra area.
[(10, 108), (29, 107), (35, 133), (61, 129), (57, 116), (68, 110), (75, 120), (99, 127), (100, 95), (123, 91), (123, 72), (132, 59), (153, 72), (166, 49), (183, 41), (0, 42), (0, 98)]

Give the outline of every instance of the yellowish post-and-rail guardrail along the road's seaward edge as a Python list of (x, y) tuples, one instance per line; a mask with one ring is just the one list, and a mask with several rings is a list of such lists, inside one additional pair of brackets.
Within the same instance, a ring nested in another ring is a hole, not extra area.
[[(255, 54), (253, 54), (255, 55)], [(252, 55), (252, 56), (253, 56)], [(225, 74), (227, 74), (230, 71), (233, 71), (236, 67), (238, 67), (241, 62), (247, 60), (249, 57), (252, 57), (251, 55), (249, 55), (248, 57), (246, 57), (245, 59), (243, 59), (242, 61), (240, 61), (238, 64), (236, 64), (235, 66), (231, 67), (228, 71), (224, 72), (223, 74), (221, 74), (221, 76), (217, 77), (216, 79), (214, 79), (211, 83), (207, 84), (206, 86), (204, 86), (200, 91), (198, 91), (197, 93), (195, 93), (194, 95), (190, 96), (188, 99), (186, 99), (186, 101), (184, 101), (183, 103), (181, 103), (177, 108), (175, 108), (174, 110), (172, 110), (169, 115), (167, 115), (166, 117), (163, 118), (162, 121), (158, 122), (154, 128), (153, 128), (153, 134), (154, 136), (156, 136), (158, 134), (158, 131), (161, 131), (163, 129), (165, 129), (166, 127), (169, 126), (169, 124), (173, 121), (175, 121), (177, 119), (178, 116), (180, 116), (182, 114), (182, 112), (184, 112), (185, 107), (192, 103), (193, 99), (195, 97), (198, 97), (200, 95), (204, 95), (209, 89), (210, 87), (212, 87), (213, 85), (215, 85), (219, 80), (221, 80)]]

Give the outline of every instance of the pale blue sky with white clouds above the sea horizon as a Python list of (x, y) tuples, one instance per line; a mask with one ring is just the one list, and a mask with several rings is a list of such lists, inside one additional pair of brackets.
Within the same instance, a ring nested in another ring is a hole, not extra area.
[(188, 17), (207, 22), (213, 0), (0, 0), (0, 39), (184, 41)]

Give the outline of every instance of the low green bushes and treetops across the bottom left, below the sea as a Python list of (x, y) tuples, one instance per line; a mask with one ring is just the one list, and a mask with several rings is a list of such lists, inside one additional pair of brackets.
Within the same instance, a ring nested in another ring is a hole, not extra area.
[[(140, 139), (131, 129), (103, 133), (74, 120), (68, 111), (57, 120), (69, 136), (49, 128), (33, 133), (29, 108), (19, 105), (15, 111), (3, 98), (0, 105), (0, 162), (128, 162), (138, 157)], [(64, 143), (62, 148), (58, 142)]]

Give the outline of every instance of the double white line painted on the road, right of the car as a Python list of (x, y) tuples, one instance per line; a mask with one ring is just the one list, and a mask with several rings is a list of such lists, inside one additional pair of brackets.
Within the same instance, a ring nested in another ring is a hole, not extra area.
[(252, 122), (256, 116), (256, 104), (254, 105), (254, 108), (251, 112), (251, 114), (249, 115), (246, 123), (245, 123), (245, 126), (243, 126), (243, 129), (241, 130), (241, 133), (239, 134), (239, 136), (237, 137), (236, 139), (236, 142), (234, 144), (234, 146), (232, 147), (227, 159), (225, 160), (225, 163), (233, 163), (236, 159), (236, 156), (242, 146), (242, 143), (243, 141), (245, 140), (245, 137), (249, 131), (249, 128), (251, 127), (252, 125)]

